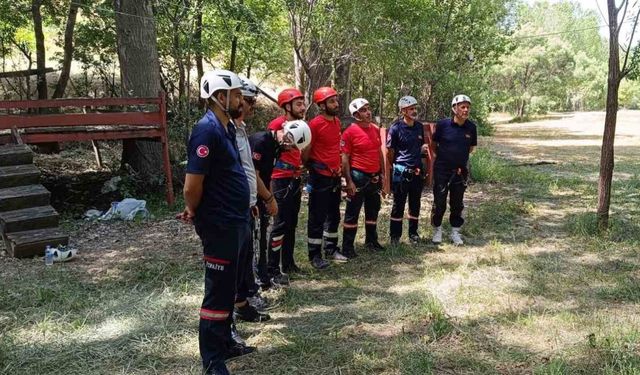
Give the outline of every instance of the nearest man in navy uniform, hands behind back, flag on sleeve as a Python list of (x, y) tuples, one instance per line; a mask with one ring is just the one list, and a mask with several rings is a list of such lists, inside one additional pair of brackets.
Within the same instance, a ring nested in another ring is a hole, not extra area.
[(242, 82), (227, 70), (205, 73), (200, 97), (207, 112), (191, 132), (181, 219), (195, 224), (205, 265), (200, 355), (205, 374), (227, 375), (232, 345), (238, 254), (249, 223), (249, 184), (236, 145), (233, 118), (242, 113)]

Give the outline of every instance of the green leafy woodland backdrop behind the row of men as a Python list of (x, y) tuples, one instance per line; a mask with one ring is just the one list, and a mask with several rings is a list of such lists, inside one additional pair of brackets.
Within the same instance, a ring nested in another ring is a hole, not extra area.
[[(112, 5), (80, 6), (74, 60), (81, 73), (72, 76), (69, 96), (120, 94)], [(68, 6), (52, 0), (43, 8), (48, 38), (57, 44)], [(0, 4), (3, 14), (16, 15), (0, 21), (3, 56), (19, 55), (17, 43), (33, 50), (29, 7), (26, 0)], [(157, 2), (154, 17), (163, 88), (179, 134), (198, 112), (198, 54), (205, 68), (233, 66), (258, 84), (299, 82), (304, 91), (332, 84), (345, 102), (368, 98), (383, 118), (397, 115), (397, 100), (407, 94), (418, 98), (421, 117), (449, 116), (451, 97), (465, 93), (485, 135), (492, 132), (491, 110), (525, 116), (604, 103), (606, 43), (598, 17), (568, 1), (182, 0)], [(624, 99), (637, 106), (633, 90)]]

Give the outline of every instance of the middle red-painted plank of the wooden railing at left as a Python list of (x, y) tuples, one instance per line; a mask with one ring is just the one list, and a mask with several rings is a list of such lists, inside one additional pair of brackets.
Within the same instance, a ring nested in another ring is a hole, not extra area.
[(0, 129), (74, 125), (161, 125), (159, 112), (67, 113), (0, 116)]

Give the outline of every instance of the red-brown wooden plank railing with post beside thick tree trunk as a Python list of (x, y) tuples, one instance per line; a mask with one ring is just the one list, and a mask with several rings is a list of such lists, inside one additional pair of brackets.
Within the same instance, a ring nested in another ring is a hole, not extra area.
[[(108, 110), (99, 108), (108, 107)], [(125, 107), (114, 112), (114, 107)], [(128, 111), (126, 107), (138, 107)], [(141, 109), (144, 107), (145, 109)], [(155, 107), (149, 110), (148, 107)], [(49, 109), (43, 113), (42, 109)], [(5, 113), (2, 113), (4, 110)], [(40, 113), (34, 113), (38, 111)], [(64, 111), (67, 113), (64, 113)], [(91, 141), (101, 164), (96, 141), (152, 139), (162, 144), (167, 203), (174, 194), (167, 135), (167, 104), (164, 93), (154, 98), (79, 98), (0, 101), (0, 144)]]

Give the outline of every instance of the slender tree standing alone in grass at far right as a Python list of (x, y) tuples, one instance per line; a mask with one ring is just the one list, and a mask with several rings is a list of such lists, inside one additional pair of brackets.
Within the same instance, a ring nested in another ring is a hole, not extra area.
[(611, 203), (611, 180), (613, 178), (614, 167), (614, 147), (616, 136), (616, 120), (618, 116), (618, 90), (620, 81), (637, 69), (639, 50), (632, 51), (631, 42), (638, 26), (637, 10), (632, 21), (632, 31), (629, 43), (622, 47), (623, 59), (620, 65), (619, 36), (622, 25), (629, 9), (629, 0), (623, 0), (620, 5), (616, 5), (615, 0), (607, 0), (607, 12), (609, 17), (609, 79), (607, 81), (607, 107), (604, 119), (604, 134), (602, 136), (602, 149), (600, 153), (600, 176), (598, 178), (598, 228), (606, 230), (609, 227), (609, 206)]

